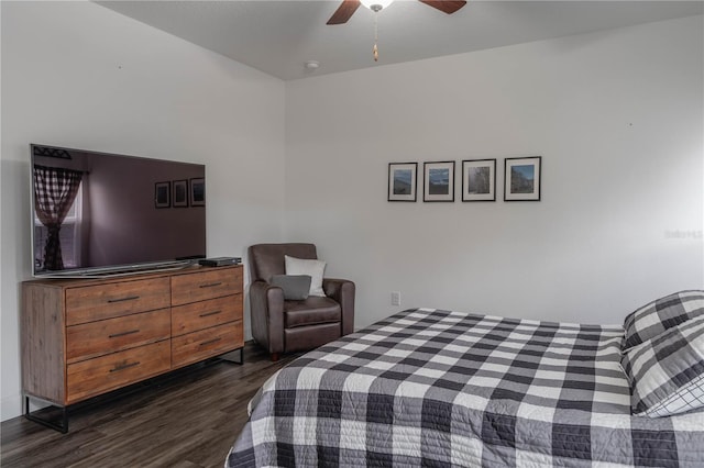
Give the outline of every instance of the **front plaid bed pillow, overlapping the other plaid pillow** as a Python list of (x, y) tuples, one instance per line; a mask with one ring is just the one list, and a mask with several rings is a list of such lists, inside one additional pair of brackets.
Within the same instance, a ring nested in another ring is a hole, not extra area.
[(622, 355), (634, 414), (670, 416), (704, 409), (704, 315)]

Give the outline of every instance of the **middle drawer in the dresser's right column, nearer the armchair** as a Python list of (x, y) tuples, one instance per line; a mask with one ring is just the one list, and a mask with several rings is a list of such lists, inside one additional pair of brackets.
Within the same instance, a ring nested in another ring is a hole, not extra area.
[(172, 308), (172, 335), (179, 336), (237, 320), (242, 320), (242, 294), (177, 305)]

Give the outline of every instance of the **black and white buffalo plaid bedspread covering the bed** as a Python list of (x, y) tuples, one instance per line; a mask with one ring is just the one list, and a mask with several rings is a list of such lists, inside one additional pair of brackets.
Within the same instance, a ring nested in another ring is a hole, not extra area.
[(630, 414), (623, 337), (404, 311), (274, 375), (226, 467), (704, 467), (704, 413)]

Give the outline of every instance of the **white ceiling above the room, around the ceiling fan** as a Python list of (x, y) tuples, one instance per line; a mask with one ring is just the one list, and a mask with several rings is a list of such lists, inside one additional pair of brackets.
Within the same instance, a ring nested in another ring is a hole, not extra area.
[[(448, 15), (417, 0), (360, 7), (327, 25), (340, 1), (97, 1), (284, 80), (348, 71), (704, 13), (703, 1), (470, 0)], [(319, 62), (317, 70), (308, 60)]]

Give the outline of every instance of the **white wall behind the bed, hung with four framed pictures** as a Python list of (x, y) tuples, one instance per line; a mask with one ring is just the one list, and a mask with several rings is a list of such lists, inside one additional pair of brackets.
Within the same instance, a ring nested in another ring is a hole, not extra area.
[[(286, 238), (356, 281), (356, 326), (391, 291), (620, 323), (703, 288), (703, 38), (694, 16), (289, 81)], [(501, 201), (503, 158), (534, 155), (542, 201)], [(388, 163), (471, 158), (497, 158), (499, 201), (386, 201)]]

